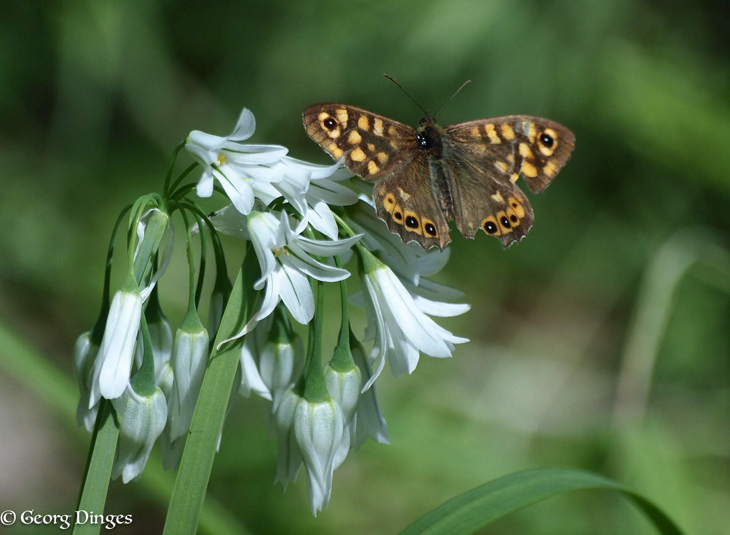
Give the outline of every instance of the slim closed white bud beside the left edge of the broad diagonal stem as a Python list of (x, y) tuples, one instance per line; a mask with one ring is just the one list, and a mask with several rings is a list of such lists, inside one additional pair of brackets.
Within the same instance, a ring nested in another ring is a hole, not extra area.
[(175, 333), (170, 363), (174, 375), (169, 402), (171, 441), (185, 436), (193, 420), (208, 365), (208, 333), (198, 315), (188, 314)]

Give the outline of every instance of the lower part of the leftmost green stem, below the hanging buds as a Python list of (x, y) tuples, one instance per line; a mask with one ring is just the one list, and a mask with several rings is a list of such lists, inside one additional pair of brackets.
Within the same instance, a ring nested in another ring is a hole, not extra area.
[[(115, 420), (112, 404), (109, 400), (102, 398), (99, 401), (99, 415), (96, 417), (89, 446), (89, 456), (81, 485), (79, 503), (76, 507), (77, 511), (83, 509), (90, 515), (91, 511), (97, 514), (104, 512), (119, 436), (119, 424)], [(76, 524), (73, 534), (96, 535), (99, 533), (99, 529), (101, 529), (101, 524)]]

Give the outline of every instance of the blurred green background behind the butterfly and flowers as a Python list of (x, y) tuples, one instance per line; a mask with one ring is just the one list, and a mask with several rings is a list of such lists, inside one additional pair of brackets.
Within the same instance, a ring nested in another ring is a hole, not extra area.
[[(326, 163), (301, 126), (310, 104), (418, 122), (385, 72), (430, 109), (472, 80), (441, 123), (544, 116), (575, 132), (575, 153), (530, 196), (535, 223), (522, 244), (502, 251), (452, 232), (438, 278), (473, 307), (439, 323), (472, 342), (453, 359), (422, 358), (410, 377), (383, 373), (391, 445), (350, 453), (315, 519), (303, 472), (283, 495), (272, 486), (263, 404), (241, 398), (210, 482), (221, 515), (251, 534), (396, 534), (494, 477), (575, 466), (628, 483), (691, 534), (730, 534), (729, 6), (1, 2), (0, 509), (75, 507), (89, 437), (71, 416), (72, 345), (96, 320), (119, 209), (161, 190), (174, 146), (193, 129), (228, 134), (245, 106), (253, 142)], [(187, 299), (179, 245), (160, 286), (173, 322)], [(235, 273), (241, 247), (227, 245)], [(50, 379), (9, 364), (10, 333), (43, 355)], [(107, 512), (134, 516), (117, 533), (161, 531), (164, 478), (148, 472), (112, 483)], [(650, 529), (596, 492), (483, 533)]]

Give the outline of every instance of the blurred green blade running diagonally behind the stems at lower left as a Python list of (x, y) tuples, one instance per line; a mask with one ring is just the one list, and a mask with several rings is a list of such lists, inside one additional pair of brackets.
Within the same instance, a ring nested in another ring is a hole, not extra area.
[[(66, 424), (72, 436), (82, 443), (88, 441), (88, 434), (76, 425), (79, 393), (75, 381), (2, 323), (0, 323), (0, 368), (53, 409), (61, 422)], [(147, 460), (145, 471), (142, 472), (142, 479), (130, 483), (128, 488), (130, 492), (139, 490), (165, 506), (172, 494), (173, 483), (172, 473), (163, 471), (160, 455), (153, 450)], [(200, 515), (199, 533), (241, 535), (247, 532), (225, 507), (211, 496), (207, 496)]]

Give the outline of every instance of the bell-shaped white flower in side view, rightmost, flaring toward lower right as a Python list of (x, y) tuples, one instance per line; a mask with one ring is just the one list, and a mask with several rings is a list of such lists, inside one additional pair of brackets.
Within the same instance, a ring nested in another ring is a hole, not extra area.
[[(453, 336), (426, 313), (437, 315), (427, 304), (416, 304), (396, 274), (372, 253), (359, 247), (363, 259), (362, 274), (369, 324), (377, 326), (372, 359), (379, 359), (377, 370), (366, 382), (365, 389), (372, 385), (383, 370), (385, 355), (394, 377), (404, 372), (413, 372), (418, 364), (419, 353), (431, 357), (450, 357), (454, 344), (469, 342), (466, 338)], [(424, 313), (426, 312), (426, 313)]]

